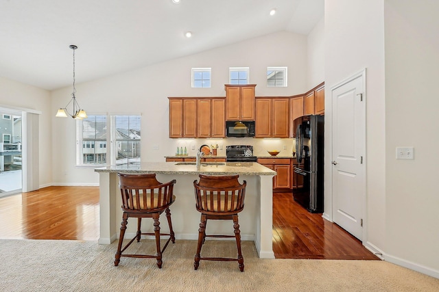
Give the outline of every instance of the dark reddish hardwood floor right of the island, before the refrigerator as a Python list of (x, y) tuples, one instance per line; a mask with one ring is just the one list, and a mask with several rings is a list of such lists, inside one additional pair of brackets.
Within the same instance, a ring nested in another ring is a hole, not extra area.
[(301, 207), (292, 193), (273, 194), (273, 251), (276, 258), (379, 259), (343, 228)]

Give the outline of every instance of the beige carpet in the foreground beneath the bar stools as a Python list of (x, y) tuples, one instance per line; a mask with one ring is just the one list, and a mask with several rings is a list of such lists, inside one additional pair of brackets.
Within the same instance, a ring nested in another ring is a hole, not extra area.
[[(151, 244), (152, 243), (152, 244)], [(134, 250), (154, 249), (152, 241)], [(235, 256), (233, 241), (206, 241), (208, 252)], [(155, 259), (121, 258), (116, 243), (0, 240), (0, 291), (439, 291), (439, 279), (384, 261), (261, 259), (243, 242), (245, 271), (235, 262), (201, 261), (196, 242), (178, 240)]]

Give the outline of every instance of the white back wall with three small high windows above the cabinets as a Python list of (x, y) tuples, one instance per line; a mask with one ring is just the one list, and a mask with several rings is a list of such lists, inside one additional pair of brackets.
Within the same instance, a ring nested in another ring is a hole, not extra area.
[[(283, 31), (105, 79), (78, 84), (76, 86), (77, 98), (88, 114), (103, 112), (142, 114), (142, 159), (143, 161), (164, 161), (163, 157), (175, 154), (177, 145), (184, 147), (195, 144), (199, 147), (202, 144), (216, 143), (216, 140), (169, 139), (167, 97), (225, 96), (224, 84), (228, 83), (230, 66), (250, 67), (250, 83), (257, 84), (257, 96), (292, 96), (305, 93), (310, 89), (307, 87), (307, 36)], [(266, 87), (265, 78), (268, 66), (288, 67), (287, 88)], [(191, 88), (192, 67), (212, 68), (212, 88)], [(71, 88), (52, 92), (54, 113), (58, 107), (67, 104), (70, 94)], [(93, 170), (75, 168), (75, 122), (71, 118), (54, 118), (52, 124), (54, 184), (97, 184), (98, 175)], [(247, 143), (246, 140), (243, 142)], [(232, 139), (221, 141), (224, 146), (241, 143)], [(261, 152), (265, 151), (265, 147), (281, 147), (279, 150), (283, 150), (284, 145), (289, 154), (292, 150), (291, 140), (262, 142), (251, 139), (251, 141), (257, 144), (256, 150)], [(159, 150), (153, 150), (154, 145), (158, 145)], [(190, 149), (190, 151), (193, 150)]]

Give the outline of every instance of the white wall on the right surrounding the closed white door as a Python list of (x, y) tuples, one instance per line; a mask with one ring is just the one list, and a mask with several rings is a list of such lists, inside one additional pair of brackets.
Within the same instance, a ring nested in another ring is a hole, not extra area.
[[(326, 0), (324, 29), (326, 109), (331, 87), (367, 68), (366, 246), (439, 278), (439, 159), (432, 155), (439, 101), (431, 86), (439, 77), (437, 11), (428, 0)], [(329, 110), (325, 121), (325, 155), (331, 155)], [(396, 160), (396, 146), (414, 146), (415, 159)], [(331, 194), (328, 176), (325, 185)]]

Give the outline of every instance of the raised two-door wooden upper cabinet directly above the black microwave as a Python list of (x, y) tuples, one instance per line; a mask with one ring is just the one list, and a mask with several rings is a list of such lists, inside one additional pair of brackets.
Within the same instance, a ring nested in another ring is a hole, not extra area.
[(254, 120), (256, 84), (226, 84), (224, 87), (226, 88), (226, 120)]

